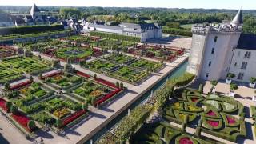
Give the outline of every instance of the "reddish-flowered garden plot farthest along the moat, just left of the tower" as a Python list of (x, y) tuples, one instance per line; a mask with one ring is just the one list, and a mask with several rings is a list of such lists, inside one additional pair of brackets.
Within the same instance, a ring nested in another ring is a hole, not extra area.
[(166, 46), (136, 45), (129, 48), (128, 53), (173, 62), (177, 56), (184, 54), (184, 50)]

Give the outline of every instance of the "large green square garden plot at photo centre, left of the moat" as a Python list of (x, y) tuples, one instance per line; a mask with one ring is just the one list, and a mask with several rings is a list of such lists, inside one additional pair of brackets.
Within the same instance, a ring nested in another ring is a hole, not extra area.
[(80, 65), (95, 72), (118, 78), (124, 82), (136, 84), (162, 68), (161, 62), (151, 62), (124, 54), (111, 54), (92, 62), (80, 62)]

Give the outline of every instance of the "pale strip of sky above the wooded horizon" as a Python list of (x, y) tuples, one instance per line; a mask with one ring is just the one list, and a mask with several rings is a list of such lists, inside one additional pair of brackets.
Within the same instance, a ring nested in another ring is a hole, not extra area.
[(0, 0), (0, 6), (103, 6), (256, 10), (255, 0)]

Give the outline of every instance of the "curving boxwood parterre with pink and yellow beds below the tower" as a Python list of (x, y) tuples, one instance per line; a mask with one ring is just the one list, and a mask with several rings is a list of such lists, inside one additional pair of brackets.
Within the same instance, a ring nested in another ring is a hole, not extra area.
[(176, 102), (163, 110), (167, 120), (199, 126), (203, 132), (231, 142), (246, 136), (243, 106), (233, 98), (190, 89), (176, 91), (174, 96)]

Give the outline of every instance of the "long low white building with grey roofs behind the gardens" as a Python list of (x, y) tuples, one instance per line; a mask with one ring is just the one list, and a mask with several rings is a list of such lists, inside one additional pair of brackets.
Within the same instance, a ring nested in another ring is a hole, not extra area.
[(119, 26), (106, 26), (87, 22), (83, 26), (83, 31), (100, 31), (139, 37), (141, 42), (146, 42), (150, 38), (162, 38), (162, 26), (159, 26), (157, 23), (121, 23)]

